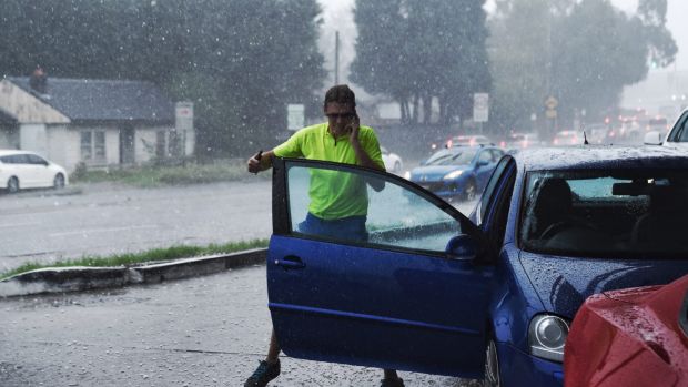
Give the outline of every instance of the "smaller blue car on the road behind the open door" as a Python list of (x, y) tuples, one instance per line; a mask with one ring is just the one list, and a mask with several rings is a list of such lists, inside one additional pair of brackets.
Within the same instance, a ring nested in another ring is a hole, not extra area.
[(474, 200), (504, 151), (496, 146), (453, 146), (434, 153), (405, 177), (447, 200)]

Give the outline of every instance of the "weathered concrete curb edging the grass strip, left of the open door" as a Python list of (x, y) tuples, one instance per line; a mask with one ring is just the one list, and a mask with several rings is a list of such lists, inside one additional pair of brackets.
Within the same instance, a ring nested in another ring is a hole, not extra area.
[(0, 297), (81, 292), (132, 284), (158, 284), (265, 263), (267, 248), (130, 267), (39, 268), (0, 281)]

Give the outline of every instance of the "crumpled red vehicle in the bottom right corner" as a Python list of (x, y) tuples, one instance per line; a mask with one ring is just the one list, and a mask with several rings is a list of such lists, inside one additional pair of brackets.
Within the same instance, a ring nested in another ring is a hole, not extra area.
[(688, 275), (590, 296), (564, 355), (566, 387), (688, 386)]

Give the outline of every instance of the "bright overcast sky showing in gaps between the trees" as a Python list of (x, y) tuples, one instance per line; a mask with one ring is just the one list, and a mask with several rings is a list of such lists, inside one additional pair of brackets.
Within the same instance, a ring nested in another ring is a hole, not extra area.
[[(353, 41), (355, 39), (355, 28), (351, 9), (354, 0), (320, 0), (324, 11), (324, 26), (321, 48), (325, 53), (328, 65), (333, 63), (334, 52), (334, 30), (341, 31), (342, 50), (341, 63), (343, 68), (353, 60)], [(490, 9), (488, 0), (487, 8)], [(611, 2), (628, 12), (635, 12), (638, 7), (638, 0), (611, 0)], [(674, 39), (678, 45), (678, 54), (676, 63), (669, 69), (688, 70), (688, 22), (685, 18), (688, 16), (688, 0), (668, 0), (667, 27), (671, 31)], [(340, 80), (346, 78), (343, 74)]]

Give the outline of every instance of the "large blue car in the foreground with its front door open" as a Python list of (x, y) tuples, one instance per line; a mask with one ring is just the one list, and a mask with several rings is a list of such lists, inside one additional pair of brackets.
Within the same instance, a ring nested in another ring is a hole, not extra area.
[[(300, 227), (318, 174), (363, 184), (367, 237)], [(688, 156), (659, 147), (506, 155), (469, 217), (396, 175), (275, 160), (273, 326), (297, 358), (561, 386), (588, 296), (688, 274), (686, 197)]]

